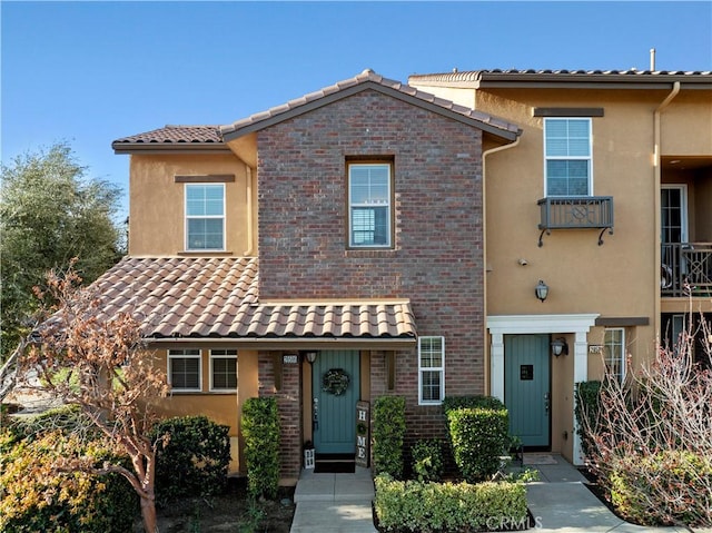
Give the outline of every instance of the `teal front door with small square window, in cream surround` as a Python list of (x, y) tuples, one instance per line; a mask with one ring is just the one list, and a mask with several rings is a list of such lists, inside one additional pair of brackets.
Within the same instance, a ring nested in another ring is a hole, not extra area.
[(527, 447), (551, 446), (548, 335), (505, 335), (504, 403), (510, 434)]

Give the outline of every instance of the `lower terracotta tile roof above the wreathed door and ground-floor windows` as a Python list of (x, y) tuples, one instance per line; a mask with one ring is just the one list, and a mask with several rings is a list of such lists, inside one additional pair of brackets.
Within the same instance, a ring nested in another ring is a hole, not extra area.
[(126, 257), (92, 288), (147, 338), (415, 338), (407, 300), (260, 303), (258, 278), (254, 257)]

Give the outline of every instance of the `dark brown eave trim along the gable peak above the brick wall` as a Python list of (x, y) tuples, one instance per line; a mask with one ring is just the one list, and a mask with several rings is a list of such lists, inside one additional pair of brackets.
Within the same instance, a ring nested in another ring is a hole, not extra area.
[(227, 125), (227, 126), (220, 126), (220, 132), (222, 135), (222, 138), (225, 139), (226, 142), (229, 142), (230, 140), (237, 139), (238, 137), (243, 137), (247, 134), (251, 134), (254, 131), (259, 131), (261, 129), (268, 128), (270, 126), (274, 126), (276, 124), (283, 122), (285, 120), (298, 117), (300, 115), (304, 115), (306, 112), (313, 111), (315, 109), (319, 109), (324, 106), (328, 106), (329, 103), (333, 103), (335, 101), (338, 101), (343, 98), (347, 98), (350, 96), (354, 96), (358, 92), (362, 92), (364, 90), (375, 90), (378, 91), (383, 95), (387, 95), (390, 96), (393, 98), (396, 98), (398, 100), (405, 101), (407, 103), (421, 107), (423, 109), (427, 109), (429, 111), (436, 112), (438, 115), (442, 115), (444, 117), (451, 118), (453, 120), (457, 120), (458, 122), (463, 122), (466, 124), (468, 126), (472, 127), (476, 127), (482, 129), (483, 131), (486, 131), (491, 135), (494, 135), (496, 137), (500, 137), (504, 140), (507, 141), (514, 141), (516, 140), (516, 138), (520, 135), (520, 131), (512, 131), (508, 129), (503, 129), (500, 128), (497, 126), (493, 126), (491, 124), (484, 122), (482, 120), (477, 120), (475, 118), (471, 118), (467, 117), (465, 115), (458, 113), (456, 111), (453, 111), (451, 109), (446, 109), (442, 106), (438, 106), (437, 103), (433, 103), (433, 102), (428, 102), (426, 100), (423, 100), (421, 98), (411, 96), (411, 95), (406, 95), (397, 89), (390, 88), (390, 87), (386, 87), (384, 85), (377, 83), (375, 81), (364, 81), (363, 83), (353, 86), (353, 87), (347, 87), (345, 89), (339, 90), (338, 92), (333, 92), (330, 95), (325, 95), (322, 98), (312, 100), (312, 101), (307, 101), (298, 107), (294, 107), (291, 109), (288, 109), (286, 111), (283, 111), (277, 115), (271, 115), (265, 119), (261, 120), (255, 120), (253, 122), (246, 124), (245, 126), (241, 127), (235, 127), (235, 125)]

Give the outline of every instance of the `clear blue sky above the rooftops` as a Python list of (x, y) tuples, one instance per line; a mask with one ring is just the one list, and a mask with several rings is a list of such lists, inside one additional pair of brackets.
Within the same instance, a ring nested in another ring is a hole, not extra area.
[(712, 1), (0, 1), (2, 161), (61, 140), (128, 190), (111, 141), (228, 124), (350, 78), (712, 70)]

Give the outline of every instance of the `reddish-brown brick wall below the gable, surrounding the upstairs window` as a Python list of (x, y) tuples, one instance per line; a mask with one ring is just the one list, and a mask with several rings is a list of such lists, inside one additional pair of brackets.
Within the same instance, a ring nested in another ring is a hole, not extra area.
[[(482, 393), (481, 130), (366, 90), (260, 131), (258, 156), (260, 298), (409, 298), (418, 335), (445, 336), (446, 394)], [(346, 160), (359, 156), (394, 162), (393, 249), (347, 249)], [(416, 351), (398, 352), (388, 393), (406, 395), (412, 437), (442, 421), (417, 383)]]

